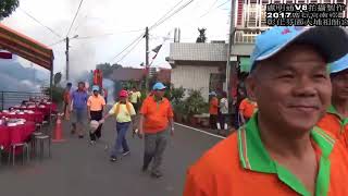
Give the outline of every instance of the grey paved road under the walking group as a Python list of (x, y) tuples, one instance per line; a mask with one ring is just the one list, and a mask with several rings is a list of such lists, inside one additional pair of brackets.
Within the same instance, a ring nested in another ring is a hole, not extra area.
[[(104, 143), (113, 145), (114, 121), (103, 128)], [(3, 196), (179, 196), (185, 172), (197, 158), (221, 138), (181, 125), (165, 151), (164, 176), (151, 179), (140, 172), (142, 140), (128, 134), (130, 156), (113, 163), (104, 144), (89, 146), (87, 139), (69, 134), (65, 143), (53, 144), (52, 158), (26, 166), (0, 167), (0, 195)]]

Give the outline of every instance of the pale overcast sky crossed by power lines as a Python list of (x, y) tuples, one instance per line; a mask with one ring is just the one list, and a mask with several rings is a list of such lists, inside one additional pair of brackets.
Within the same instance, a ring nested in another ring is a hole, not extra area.
[[(123, 54), (114, 59), (128, 44), (145, 29), (151, 26), (163, 14), (171, 10), (181, 0), (84, 0), (79, 14), (72, 27), (70, 37), (95, 37), (89, 39), (71, 40), (71, 69), (73, 73), (91, 70), (97, 63), (117, 62)], [(183, 0), (185, 4), (189, 0)], [(46, 45), (62, 40), (69, 32), (79, 0), (20, 0), (20, 8), (2, 23), (37, 39)], [(225, 3), (226, 2), (226, 3)], [(163, 37), (174, 28), (182, 30), (182, 42), (195, 42), (198, 27), (207, 28), (210, 40), (226, 40), (229, 23), (231, 1), (227, 0), (194, 0), (191, 4), (171, 20), (150, 32), (150, 49), (162, 44)], [(219, 5), (224, 5), (217, 8)], [(61, 37), (47, 30), (45, 27), (28, 17), (23, 11), (28, 12), (45, 25), (52, 28)], [(128, 33), (126, 33), (128, 32)], [(104, 34), (112, 34), (105, 36)], [(99, 36), (101, 35), (101, 36)], [(158, 58), (156, 66), (169, 68), (165, 57), (169, 56), (169, 45), (173, 39), (165, 41)], [(54, 72), (64, 72), (65, 45), (61, 42), (52, 46), (55, 56)], [(145, 61), (145, 40), (119, 63), (125, 66), (138, 66)], [(28, 64), (26, 61), (22, 61)]]

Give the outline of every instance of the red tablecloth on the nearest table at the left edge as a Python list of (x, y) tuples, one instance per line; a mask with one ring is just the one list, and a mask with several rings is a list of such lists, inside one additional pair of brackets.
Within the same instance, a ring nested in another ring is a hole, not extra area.
[(11, 144), (20, 144), (27, 140), (32, 133), (35, 132), (35, 123), (28, 121), (17, 126), (0, 125), (0, 145), (3, 146), (5, 150), (9, 150)]

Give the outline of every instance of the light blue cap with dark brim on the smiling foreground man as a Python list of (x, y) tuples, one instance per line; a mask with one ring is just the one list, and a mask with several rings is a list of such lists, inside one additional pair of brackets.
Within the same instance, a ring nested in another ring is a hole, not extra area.
[(294, 42), (314, 46), (325, 56), (328, 63), (348, 53), (348, 35), (343, 27), (275, 26), (257, 37), (250, 57), (251, 71), (254, 69), (256, 62), (277, 54)]

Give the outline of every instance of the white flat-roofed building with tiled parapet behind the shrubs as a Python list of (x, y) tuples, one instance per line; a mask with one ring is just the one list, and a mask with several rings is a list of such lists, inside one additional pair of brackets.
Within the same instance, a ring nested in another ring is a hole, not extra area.
[(174, 87), (201, 90), (207, 101), (210, 91), (226, 89), (227, 47), (224, 42), (171, 44), (167, 61)]

